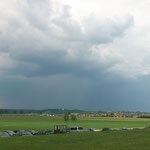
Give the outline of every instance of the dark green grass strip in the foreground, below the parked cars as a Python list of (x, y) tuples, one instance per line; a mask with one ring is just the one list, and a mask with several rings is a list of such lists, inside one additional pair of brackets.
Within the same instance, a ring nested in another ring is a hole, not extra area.
[(150, 130), (0, 138), (1, 150), (149, 150)]

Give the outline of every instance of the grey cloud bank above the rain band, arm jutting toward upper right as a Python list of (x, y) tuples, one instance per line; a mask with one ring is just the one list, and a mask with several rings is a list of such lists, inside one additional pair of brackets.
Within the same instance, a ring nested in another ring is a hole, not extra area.
[(122, 20), (90, 16), (79, 23), (73, 19), (71, 7), (52, 0), (13, 0), (11, 5), (9, 1), (4, 4), (0, 51), (15, 61), (9, 74), (80, 74), (93, 68), (99, 72), (101, 64), (95, 62), (101, 58), (95, 57), (91, 48), (113, 42), (133, 24), (131, 16)]

